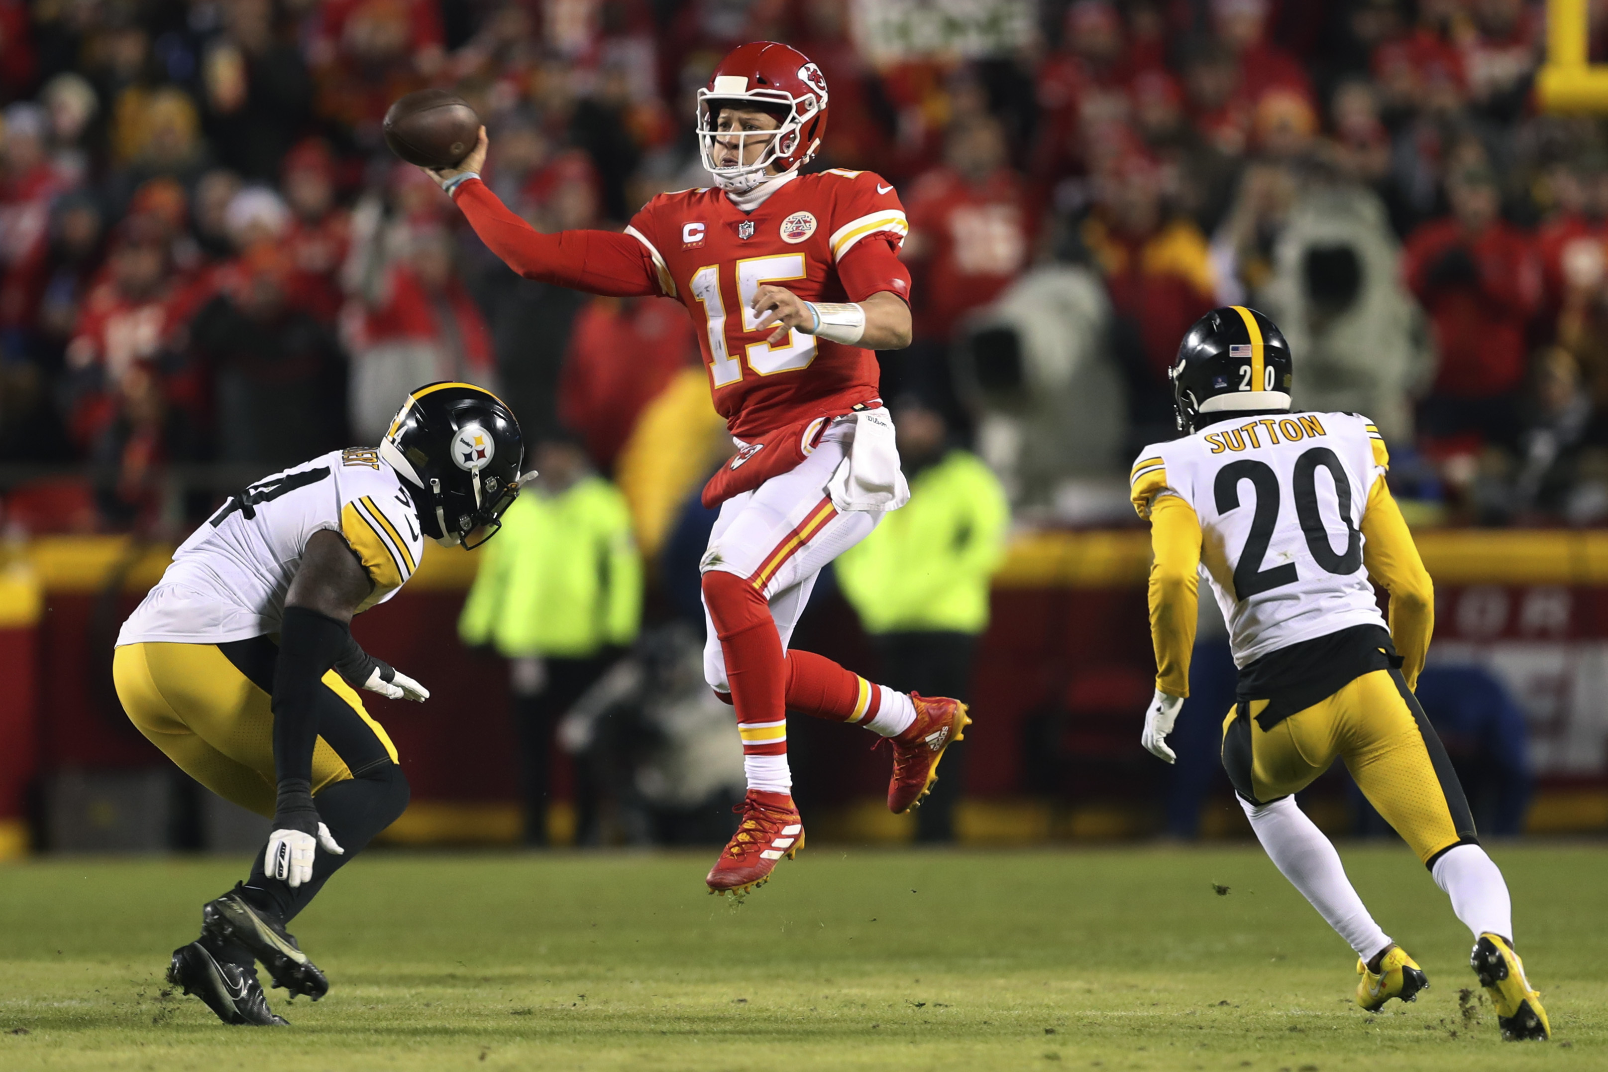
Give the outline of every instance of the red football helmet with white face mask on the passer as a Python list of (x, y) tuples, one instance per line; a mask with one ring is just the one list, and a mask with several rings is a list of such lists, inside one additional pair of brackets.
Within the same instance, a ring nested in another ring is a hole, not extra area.
[[(716, 130), (720, 108), (764, 108), (785, 111), (777, 130)], [(703, 166), (722, 190), (753, 190), (777, 164), (793, 171), (809, 163), (827, 134), (827, 76), (798, 48), (773, 40), (754, 40), (733, 48), (709, 76), (709, 85), (698, 90), (698, 151)], [(717, 137), (769, 138), (769, 145), (753, 164), (717, 167)]]

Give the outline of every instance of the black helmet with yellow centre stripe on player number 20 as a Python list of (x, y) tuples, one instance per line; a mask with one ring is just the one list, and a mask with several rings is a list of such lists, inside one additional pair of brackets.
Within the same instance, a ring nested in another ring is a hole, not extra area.
[(1183, 335), (1167, 370), (1179, 431), (1201, 427), (1201, 414), (1290, 409), (1294, 369), (1278, 325), (1256, 309), (1212, 309)]

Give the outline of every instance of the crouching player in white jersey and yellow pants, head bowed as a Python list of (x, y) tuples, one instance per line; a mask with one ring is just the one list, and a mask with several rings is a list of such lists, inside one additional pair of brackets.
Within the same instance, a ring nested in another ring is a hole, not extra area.
[(167, 969), (225, 1024), (285, 1024), (254, 961), (293, 998), (328, 992), (285, 927), (407, 806), (396, 747), (354, 689), (429, 692), (365, 654), (352, 615), (397, 594), (425, 538), (489, 539), (531, 476), (523, 459), (494, 394), (418, 388), (378, 449), (331, 451), (230, 497), (124, 623), (113, 678), (133, 724), (198, 782), (273, 819), (251, 876), (203, 906), (201, 937)]

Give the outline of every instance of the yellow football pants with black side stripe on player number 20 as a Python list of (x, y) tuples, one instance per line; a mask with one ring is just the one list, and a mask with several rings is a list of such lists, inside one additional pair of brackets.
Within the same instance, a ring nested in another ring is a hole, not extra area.
[(1251, 803), (1306, 789), (1339, 757), (1425, 864), (1454, 845), (1478, 843), (1463, 787), (1401, 671), (1362, 674), (1270, 729), (1256, 721), (1265, 707), (1237, 705), (1222, 723), (1222, 765)]

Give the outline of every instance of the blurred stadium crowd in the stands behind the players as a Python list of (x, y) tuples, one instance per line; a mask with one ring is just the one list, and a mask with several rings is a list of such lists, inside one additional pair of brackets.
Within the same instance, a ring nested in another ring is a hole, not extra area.
[(0, 2), (0, 462), (98, 473), (11, 480), (11, 522), (182, 525), (207, 496), (175, 504), (170, 467), (373, 441), (444, 377), (613, 472), (691, 327), (515, 278), (379, 119), (455, 87), (518, 211), (619, 227), (701, 182), (691, 93), (765, 37), (827, 72), (818, 166), (909, 209), (918, 343), (886, 394), (1019, 517), (1121, 518), (1177, 338), (1230, 301), (1282, 324), (1299, 406), (1378, 422), (1418, 518), (1608, 517), (1608, 146), (1532, 105), (1542, 5), (997, 0), (928, 47), (909, 8)]

